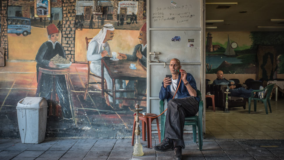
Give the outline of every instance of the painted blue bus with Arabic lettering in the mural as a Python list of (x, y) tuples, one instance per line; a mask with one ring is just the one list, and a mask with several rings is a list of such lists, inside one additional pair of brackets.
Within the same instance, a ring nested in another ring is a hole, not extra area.
[(8, 33), (27, 36), (31, 34), (31, 18), (8, 17)]

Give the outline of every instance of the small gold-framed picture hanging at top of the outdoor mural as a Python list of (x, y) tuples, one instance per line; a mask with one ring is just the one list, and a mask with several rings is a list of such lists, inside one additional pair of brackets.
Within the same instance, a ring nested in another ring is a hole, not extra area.
[(50, 17), (50, 0), (35, 0), (35, 17)]

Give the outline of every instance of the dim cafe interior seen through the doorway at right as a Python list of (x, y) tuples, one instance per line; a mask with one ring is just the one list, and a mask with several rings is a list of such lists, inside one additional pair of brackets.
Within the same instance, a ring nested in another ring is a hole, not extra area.
[[(280, 55), (284, 54), (284, 41), (282, 39), (276, 44), (277, 42), (268, 40), (270, 39), (270, 33), (283, 35), (284, 14), (283, 9), (281, 9), (283, 1), (240, 0), (236, 1), (236, 3), (233, 3), (233, 1), (229, 3), (227, 3), (228, 1), (223, 3), (217, 2), (219, 1), (206, 1), (206, 92), (211, 93), (211, 97), (212, 94), (215, 94), (215, 101), (213, 107), (212, 98), (209, 96), (206, 98), (205, 138), (283, 139), (284, 92), (283, 87), (281, 89), (280, 86), (284, 83), (284, 74), (280, 72), (281, 64), (277, 62), (279, 61), (277, 57), (281, 57)], [(261, 41), (255, 38), (256, 34), (260, 36), (258, 38), (261, 38)], [(223, 40), (218, 39), (221, 36)], [(240, 47), (242, 41), (246, 41), (246, 39), (251, 40), (246, 43), (251, 48), (241, 49), (231, 46), (231, 48), (235, 48), (235, 55), (231, 54), (231, 57), (224, 55), (226, 52), (228, 53), (228, 50), (223, 52), (222, 56), (218, 55), (218, 50), (215, 50), (216, 47), (220, 47), (221, 42), (227, 41), (228, 44), (236, 42), (238, 47)], [(265, 42), (265, 39), (270, 42)], [(216, 42), (220, 42), (219, 46)], [(274, 52), (268, 51), (267, 48), (269, 47), (276, 49)], [(251, 58), (252, 61), (244, 62), (245, 60), (242, 59), (241, 62), (236, 62), (232, 58), (234, 56), (242, 57), (244, 55), (242, 53), (250, 49), (253, 51), (251, 53), (256, 55)], [(238, 50), (244, 52), (238, 52)], [(268, 68), (265, 67), (265, 64), (268, 64), (266, 61), (268, 58), (264, 58), (264, 52), (274, 54), (274, 67), (277, 66), (278, 68), (272, 67), (273, 65)], [(214, 56), (219, 56), (218, 58), (222, 59), (219, 64), (214, 64), (214, 61), (218, 60), (214, 59)], [(234, 63), (239, 64), (234, 65)], [(247, 65), (249, 69), (242, 69), (243, 65)], [(240, 87), (245, 87), (246, 89), (258, 90), (260, 85), (265, 88), (268, 85), (275, 84), (272, 87), (273, 89), (271, 88), (271, 96), (267, 98), (270, 99), (270, 111), (272, 112), (269, 111), (268, 102), (259, 100), (254, 100), (256, 102), (251, 101), (249, 111), (248, 99), (240, 98), (228, 100), (230, 113), (224, 112), (223, 110), (226, 107), (226, 94), (224, 92), (226, 92), (226, 88), (213, 87), (211, 84), (217, 78), (216, 73), (219, 70), (224, 72), (224, 78), (234, 80), (235, 83), (242, 85), (239, 85)], [(271, 72), (273, 75), (268, 75), (268, 72)], [(268, 113), (265, 111), (265, 103), (267, 103)]]

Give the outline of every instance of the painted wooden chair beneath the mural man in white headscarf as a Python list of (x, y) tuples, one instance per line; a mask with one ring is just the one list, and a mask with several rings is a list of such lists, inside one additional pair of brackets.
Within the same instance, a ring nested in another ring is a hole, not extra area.
[[(87, 48), (87, 50), (88, 50), (88, 44), (89, 44), (90, 40), (93, 39), (93, 38), (87, 38), (87, 37), (85, 37), (85, 39), (86, 39), (86, 48)], [(90, 71), (90, 61), (87, 61), (87, 64), (88, 64), (88, 74), (87, 74), (87, 83), (86, 83), (86, 90), (85, 90), (85, 94), (84, 94), (84, 100), (86, 100), (86, 98), (87, 98), (87, 93), (88, 93), (88, 89), (89, 89), (89, 84), (102, 84), (102, 82), (90, 82), (90, 75), (92, 75), (92, 76), (94, 76), (94, 77), (97, 77), (97, 78), (100, 78), (100, 79), (102, 79), (102, 77), (100, 77), (100, 76), (98, 76), (98, 75), (96, 75), (96, 74), (94, 74), (94, 73), (92, 73), (92, 72)], [(106, 80), (105, 80), (105, 79), (104, 79), (104, 83), (105, 83), (105, 88), (107, 88), (107, 84), (106, 84)], [(101, 86), (101, 87), (102, 87), (102, 86)], [(106, 103), (107, 103), (108, 105), (110, 105), (110, 103), (109, 103), (109, 97), (108, 97), (107, 94), (105, 94), (105, 98), (106, 98)]]

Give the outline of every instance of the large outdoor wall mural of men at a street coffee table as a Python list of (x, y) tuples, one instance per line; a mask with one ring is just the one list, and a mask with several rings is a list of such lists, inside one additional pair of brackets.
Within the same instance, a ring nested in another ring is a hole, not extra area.
[[(50, 18), (25, 10), (33, 4), (9, 1), (11, 25), (31, 27), (28, 34), (8, 32), (9, 60), (25, 60), (13, 65), (28, 69), (29, 76), (22, 70), (17, 78), (8, 75), (12, 86), (0, 78), (17, 95), (1, 89), (0, 112), (15, 113), (18, 100), (40, 96), (49, 104), (47, 137), (131, 136), (129, 107), (146, 109), (146, 1), (51, 1)], [(17, 89), (17, 83), (29, 89)], [(3, 138), (19, 138), (16, 114), (6, 121), (17, 134), (1, 130)]]

